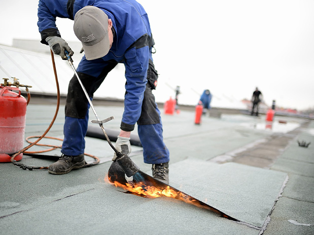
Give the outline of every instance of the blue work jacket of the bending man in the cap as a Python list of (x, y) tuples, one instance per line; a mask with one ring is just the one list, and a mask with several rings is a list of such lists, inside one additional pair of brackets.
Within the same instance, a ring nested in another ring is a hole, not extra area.
[[(151, 47), (154, 45), (149, 19), (144, 8), (134, 0), (40, 0), (38, 27), (42, 43), (48, 36), (61, 36), (56, 17), (74, 19), (85, 6), (101, 9), (112, 19), (116, 35), (104, 61), (115, 60), (125, 65), (126, 95), (122, 123), (133, 126), (141, 115), (147, 83)], [(93, 71), (89, 75), (98, 76)]]

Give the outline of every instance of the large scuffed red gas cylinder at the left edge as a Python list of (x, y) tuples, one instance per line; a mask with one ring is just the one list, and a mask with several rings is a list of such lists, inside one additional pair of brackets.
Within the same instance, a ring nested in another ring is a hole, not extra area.
[[(13, 92), (18, 91), (18, 93)], [(16, 87), (0, 86), (0, 162), (11, 162), (10, 154), (23, 148), (26, 99)], [(14, 160), (20, 161), (23, 153)]]

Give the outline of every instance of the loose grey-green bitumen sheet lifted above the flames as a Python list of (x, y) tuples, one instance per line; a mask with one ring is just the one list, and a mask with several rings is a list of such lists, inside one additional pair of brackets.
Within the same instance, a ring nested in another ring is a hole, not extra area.
[(182, 186), (173, 186), (187, 194), (238, 220), (262, 227), (287, 174), (237, 163), (217, 165), (187, 159), (173, 164), (170, 176), (178, 183), (184, 179)]

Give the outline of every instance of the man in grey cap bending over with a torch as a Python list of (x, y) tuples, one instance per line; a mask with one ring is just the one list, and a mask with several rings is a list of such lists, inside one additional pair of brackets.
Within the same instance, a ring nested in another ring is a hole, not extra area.
[[(144, 162), (152, 164), (155, 178), (168, 183), (169, 151), (163, 142), (160, 111), (152, 93), (158, 78), (152, 58), (155, 43), (144, 8), (135, 0), (40, 0), (41, 43), (66, 60), (65, 51), (70, 56), (74, 52), (62, 39), (56, 17), (74, 20), (74, 32), (85, 53), (77, 73), (91, 99), (107, 74), (118, 63), (124, 64), (124, 112), (115, 147), (123, 153), (131, 152), (130, 133), (137, 123)], [(84, 166), (88, 108), (74, 75), (66, 97), (62, 156), (49, 166), (49, 173), (65, 174)]]

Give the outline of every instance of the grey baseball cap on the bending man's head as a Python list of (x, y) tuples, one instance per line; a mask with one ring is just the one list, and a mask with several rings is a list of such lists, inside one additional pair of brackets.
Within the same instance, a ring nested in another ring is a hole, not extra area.
[(82, 42), (87, 60), (101, 58), (108, 54), (108, 16), (99, 8), (86, 6), (75, 14), (74, 33)]

